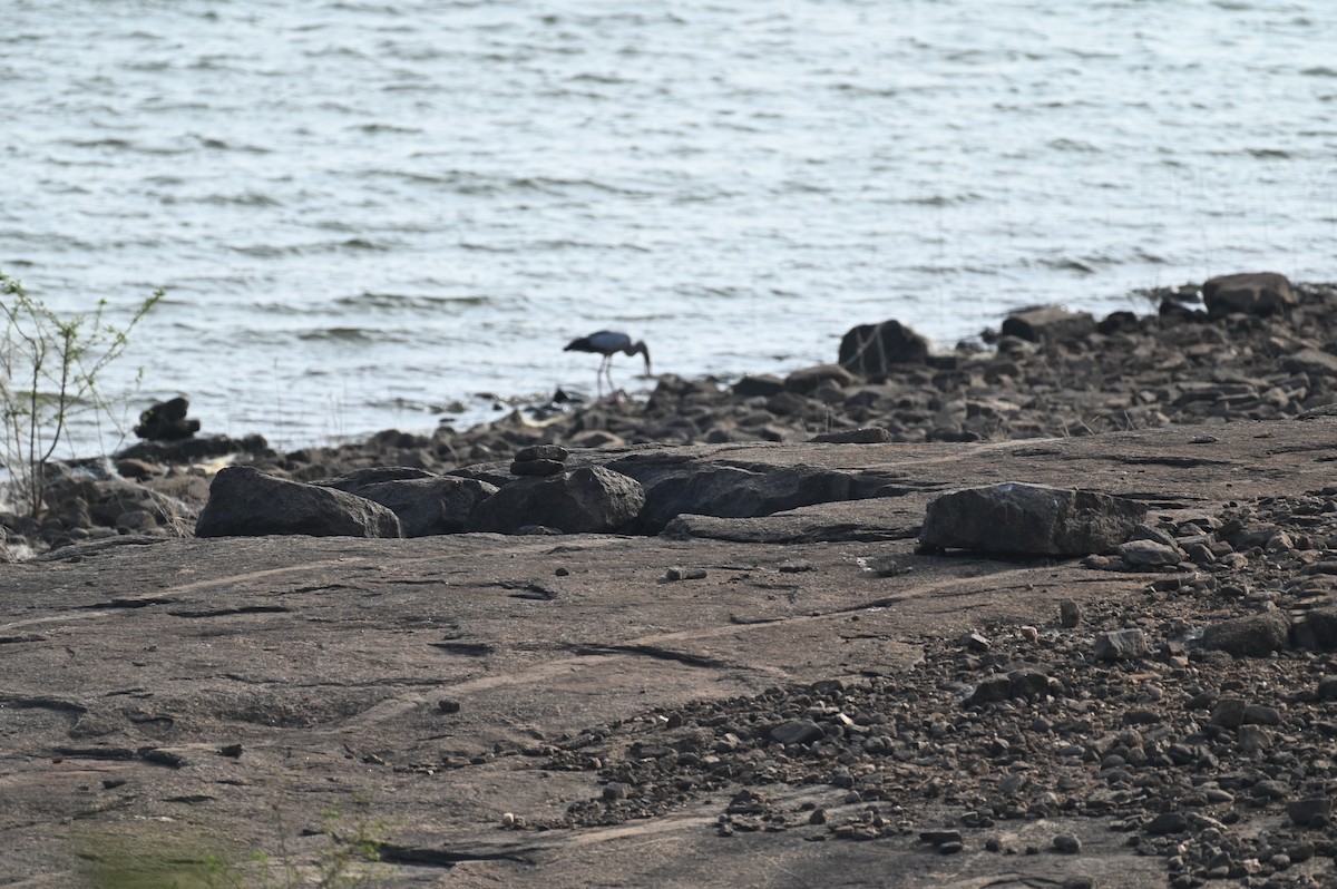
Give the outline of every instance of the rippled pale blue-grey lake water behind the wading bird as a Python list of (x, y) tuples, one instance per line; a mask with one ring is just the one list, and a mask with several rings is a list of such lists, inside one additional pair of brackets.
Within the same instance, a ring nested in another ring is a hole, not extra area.
[[(0, 271), (278, 447), (1333, 279), (1332, 0), (0, 0)], [(639, 358), (620, 357), (628, 390)], [(479, 397), (477, 393), (488, 393)]]

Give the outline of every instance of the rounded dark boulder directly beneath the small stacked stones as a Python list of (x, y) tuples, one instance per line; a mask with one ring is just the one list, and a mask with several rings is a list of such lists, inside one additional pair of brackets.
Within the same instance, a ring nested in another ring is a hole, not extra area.
[(582, 467), (555, 476), (527, 476), (504, 485), (469, 513), (469, 531), (513, 533), (543, 525), (567, 533), (606, 533), (632, 521), (646, 505), (635, 479)]

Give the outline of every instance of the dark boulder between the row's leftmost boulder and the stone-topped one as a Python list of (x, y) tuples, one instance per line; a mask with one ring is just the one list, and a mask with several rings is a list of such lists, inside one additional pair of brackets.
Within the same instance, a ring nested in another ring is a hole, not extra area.
[(477, 479), (439, 476), (412, 467), (358, 469), (316, 484), (388, 507), (400, 517), (405, 537), (460, 533), (473, 508), (497, 492), (496, 485)]

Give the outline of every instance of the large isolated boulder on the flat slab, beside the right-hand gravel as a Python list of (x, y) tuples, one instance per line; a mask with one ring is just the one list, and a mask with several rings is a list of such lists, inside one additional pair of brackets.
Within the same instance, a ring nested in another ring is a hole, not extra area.
[(1146, 515), (1146, 505), (1126, 497), (1008, 481), (932, 500), (920, 543), (1036, 556), (1110, 553)]

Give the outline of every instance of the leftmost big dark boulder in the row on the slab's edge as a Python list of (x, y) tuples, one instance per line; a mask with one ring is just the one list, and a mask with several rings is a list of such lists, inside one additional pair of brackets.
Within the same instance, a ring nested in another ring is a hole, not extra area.
[(226, 467), (209, 487), (195, 523), (197, 537), (402, 537), (386, 507), (334, 488), (267, 476), (251, 467)]

